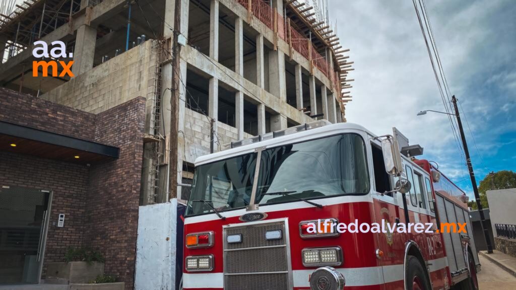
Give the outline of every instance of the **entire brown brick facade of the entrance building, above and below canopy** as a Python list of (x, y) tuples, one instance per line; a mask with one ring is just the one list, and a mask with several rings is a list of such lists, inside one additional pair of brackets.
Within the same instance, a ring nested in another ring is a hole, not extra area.
[(94, 115), (0, 88), (0, 121), (120, 148), (118, 159), (91, 166), (0, 151), (0, 185), (52, 190), (45, 264), (62, 262), (69, 246), (90, 246), (104, 254), (106, 273), (133, 288), (145, 102)]

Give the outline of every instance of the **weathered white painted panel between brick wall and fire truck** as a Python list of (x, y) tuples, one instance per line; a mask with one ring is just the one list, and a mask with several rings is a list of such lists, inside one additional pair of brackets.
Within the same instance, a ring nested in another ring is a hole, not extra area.
[(177, 208), (176, 199), (140, 206), (136, 240), (136, 290), (175, 289)]

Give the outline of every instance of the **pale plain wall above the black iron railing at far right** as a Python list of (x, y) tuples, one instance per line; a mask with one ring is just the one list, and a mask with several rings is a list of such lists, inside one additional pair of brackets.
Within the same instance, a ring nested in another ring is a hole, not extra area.
[(516, 224), (516, 188), (488, 190), (487, 201), (494, 236), (496, 223)]

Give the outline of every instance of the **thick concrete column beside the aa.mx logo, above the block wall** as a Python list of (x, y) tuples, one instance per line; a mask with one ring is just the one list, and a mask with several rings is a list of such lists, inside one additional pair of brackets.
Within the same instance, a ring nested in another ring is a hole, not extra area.
[(81, 25), (77, 29), (75, 49), (73, 51), (72, 73), (77, 76), (93, 68), (95, 56), (96, 28)]

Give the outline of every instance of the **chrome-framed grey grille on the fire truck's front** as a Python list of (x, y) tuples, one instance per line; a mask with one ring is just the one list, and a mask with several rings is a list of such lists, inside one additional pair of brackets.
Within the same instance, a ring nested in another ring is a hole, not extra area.
[[(267, 240), (267, 231), (280, 230), (279, 239)], [(227, 243), (227, 236), (241, 235), (240, 243)], [(288, 245), (284, 222), (250, 224), (224, 229), (225, 290), (286, 290)]]

